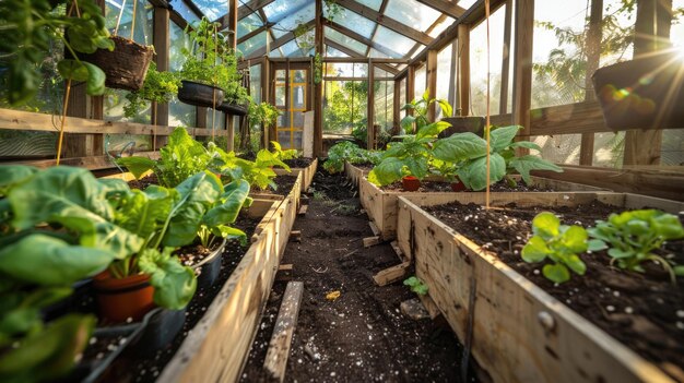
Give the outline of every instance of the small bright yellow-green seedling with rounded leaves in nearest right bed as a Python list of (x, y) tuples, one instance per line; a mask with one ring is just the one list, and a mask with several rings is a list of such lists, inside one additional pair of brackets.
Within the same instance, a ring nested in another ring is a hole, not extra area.
[(587, 265), (579, 254), (603, 249), (603, 244), (595, 240), (589, 240), (589, 235), (583, 227), (561, 225), (561, 220), (553, 213), (543, 212), (532, 220), (532, 232), (528, 243), (522, 248), (522, 260), (528, 263), (538, 263), (550, 260), (553, 263), (545, 264), (542, 268), (544, 276), (562, 284), (570, 279), (574, 273), (583, 275)]

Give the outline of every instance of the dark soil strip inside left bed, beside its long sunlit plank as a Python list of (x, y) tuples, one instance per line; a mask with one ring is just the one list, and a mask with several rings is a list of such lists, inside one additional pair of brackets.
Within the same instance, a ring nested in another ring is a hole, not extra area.
[[(259, 218), (240, 216), (234, 226), (245, 231), (249, 238), (260, 220), (261, 219)], [(235, 267), (237, 267), (237, 264), (247, 252), (247, 249), (248, 243), (247, 246), (243, 246), (237, 240), (227, 242), (222, 255), (223, 263), (219, 279), (212, 286), (198, 288), (194, 292), (194, 297), (186, 310), (186, 321), (184, 327), (168, 347), (150, 354), (146, 358), (135, 355), (130, 349), (126, 349), (123, 354), (117, 358), (115, 363), (113, 363), (113, 368), (109, 369), (108, 374), (101, 381), (117, 383), (154, 382), (162, 370), (164, 370), (166, 363), (168, 363), (168, 361), (174, 357), (176, 350), (180, 347), (182, 340), (188, 335), (188, 332), (191, 331), (204, 315), (204, 312), (214, 300), (214, 297), (219, 294), (225, 282), (228, 279)], [(134, 348), (134, 345), (132, 348)]]

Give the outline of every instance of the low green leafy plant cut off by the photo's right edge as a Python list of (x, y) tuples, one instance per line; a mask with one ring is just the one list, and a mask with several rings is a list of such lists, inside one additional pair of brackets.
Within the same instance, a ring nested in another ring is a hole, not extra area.
[(680, 219), (658, 210), (640, 210), (611, 214), (608, 220), (597, 220), (589, 235), (609, 247), (611, 264), (621, 268), (644, 273), (641, 263), (651, 261), (664, 268), (675, 282), (676, 276), (684, 276), (684, 266), (672, 264), (654, 253), (667, 240), (684, 238), (684, 228)]

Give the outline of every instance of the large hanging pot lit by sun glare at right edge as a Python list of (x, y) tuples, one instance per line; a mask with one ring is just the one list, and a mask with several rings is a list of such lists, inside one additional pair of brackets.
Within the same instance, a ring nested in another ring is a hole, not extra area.
[(603, 67), (591, 80), (610, 129), (684, 128), (684, 59), (675, 52)]

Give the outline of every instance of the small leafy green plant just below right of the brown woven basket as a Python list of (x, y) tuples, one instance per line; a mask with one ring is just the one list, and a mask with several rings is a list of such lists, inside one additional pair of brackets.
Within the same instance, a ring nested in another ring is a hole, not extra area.
[(176, 72), (157, 71), (156, 63), (150, 63), (142, 88), (126, 95), (128, 104), (123, 106), (123, 115), (135, 117), (145, 107), (145, 101), (168, 103), (178, 93), (180, 79)]

